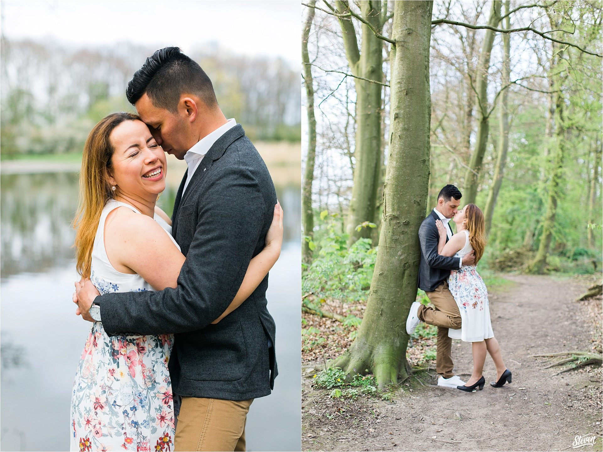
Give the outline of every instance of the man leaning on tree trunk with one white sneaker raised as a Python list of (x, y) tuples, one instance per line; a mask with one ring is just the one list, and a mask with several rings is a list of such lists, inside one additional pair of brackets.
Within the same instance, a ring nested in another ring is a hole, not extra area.
[(421, 243), (421, 257), (418, 272), (418, 287), (425, 290), (429, 301), (434, 307), (427, 307), (418, 301), (412, 303), (411, 310), (406, 320), (406, 332), (412, 334), (418, 322), (423, 321), (428, 325), (438, 327), (438, 342), (435, 359), (435, 369), (440, 374), (438, 386), (456, 388), (464, 385), (464, 381), (453, 374), (454, 367), (450, 348), (452, 339), (448, 337), (448, 328), (461, 327), (461, 314), (456, 301), (448, 289), (450, 270), (461, 268), (461, 265), (473, 265), (475, 256), (473, 251), (460, 257), (446, 257), (438, 254), (438, 241), (440, 234), (435, 226), (435, 221), (440, 219), (446, 228), (446, 242), (452, 237), (450, 218), (455, 216), (461, 192), (453, 186), (447, 185), (438, 194), (438, 204), (423, 220), (418, 230)]

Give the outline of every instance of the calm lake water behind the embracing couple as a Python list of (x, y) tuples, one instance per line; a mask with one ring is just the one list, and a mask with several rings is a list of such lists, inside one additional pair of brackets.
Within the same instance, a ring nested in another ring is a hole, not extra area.
[[(69, 448), (75, 368), (90, 324), (75, 316), (74, 231), (77, 174), (0, 177), (0, 448)], [(174, 185), (174, 184), (172, 184)], [(268, 309), (277, 325), (279, 377), (273, 394), (254, 401), (250, 451), (300, 450), (300, 185), (277, 187), (285, 244), (270, 272)], [(159, 204), (171, 213), (175, 189)]]

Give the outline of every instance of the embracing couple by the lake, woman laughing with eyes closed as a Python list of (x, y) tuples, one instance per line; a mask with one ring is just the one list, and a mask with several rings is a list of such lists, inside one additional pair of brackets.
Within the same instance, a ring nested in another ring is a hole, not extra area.
[[(244, 451), (250, 405), (278, 373), (266, 290), (283, 212), (256, 148), (179, 48), (147, 58), (126, 95), (138, 115), (107, 116), (84, 146), (74, 302), (93, 324), (71, 450)], [(171, 219), (156, 206), (165, 152), (188, 165)]]

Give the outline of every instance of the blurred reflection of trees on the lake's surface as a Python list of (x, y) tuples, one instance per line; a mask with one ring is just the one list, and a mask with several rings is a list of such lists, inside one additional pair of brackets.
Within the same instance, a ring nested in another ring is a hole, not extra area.
[[(22, 272), (44, 272), (74, 259), (78, 175), (75, 173), (10, 174), (0, 177), (2, 278)], [(299, 235), (300, 186), (276, 187), (285, 210), (284, 240)], [(176, 190), (168, 186), (159, 206), (171, 215)]]

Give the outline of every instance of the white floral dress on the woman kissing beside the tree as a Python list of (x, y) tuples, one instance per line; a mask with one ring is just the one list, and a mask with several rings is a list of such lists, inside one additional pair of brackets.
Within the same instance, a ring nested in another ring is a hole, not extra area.
[[(473, 250), (469, 243), (469, 231), (464, 230), (462, 233), (466, 235), (465, 246), (455, 254), (455, 257), (461, 259)], [(488, 289), (475, 265), (463, 265), (458, 270), (451, 270), (448, 286), (462, 320), (458, 330), (448, 329), (448, 336), (466, 342), (480, 342), (494, 337), (488, 307)]]

